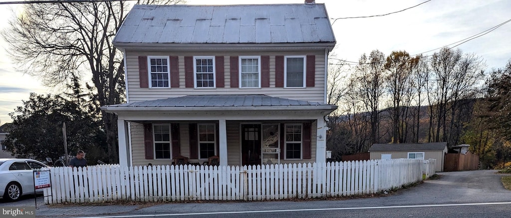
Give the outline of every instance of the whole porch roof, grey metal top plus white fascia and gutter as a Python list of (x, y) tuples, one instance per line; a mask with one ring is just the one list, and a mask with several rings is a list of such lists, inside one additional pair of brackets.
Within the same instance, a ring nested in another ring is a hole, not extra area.
[(336, 105), (252, 95), (185, 95), (175, 98), (132, 102), (101, 107), (107, 112), (115, 111), (179, 111), (179, 110), (328, 110)]

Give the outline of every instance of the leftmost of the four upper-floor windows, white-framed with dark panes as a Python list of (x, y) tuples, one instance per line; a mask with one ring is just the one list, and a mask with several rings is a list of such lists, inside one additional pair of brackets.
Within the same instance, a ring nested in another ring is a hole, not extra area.
[(169, 57), (149, 56), (149, 81), (151, 88), (170, 87)]

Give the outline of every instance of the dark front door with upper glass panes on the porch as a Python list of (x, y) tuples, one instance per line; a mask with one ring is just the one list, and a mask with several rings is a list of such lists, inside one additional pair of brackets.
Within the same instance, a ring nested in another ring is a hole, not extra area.
[(241, 125), (241, 165), (261, 164), (261, 124)]

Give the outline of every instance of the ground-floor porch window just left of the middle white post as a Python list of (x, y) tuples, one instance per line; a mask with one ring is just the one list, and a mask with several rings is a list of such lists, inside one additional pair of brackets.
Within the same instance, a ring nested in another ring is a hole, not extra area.
[(199, 159), (215, 156), (215, 124), (199, 124)]

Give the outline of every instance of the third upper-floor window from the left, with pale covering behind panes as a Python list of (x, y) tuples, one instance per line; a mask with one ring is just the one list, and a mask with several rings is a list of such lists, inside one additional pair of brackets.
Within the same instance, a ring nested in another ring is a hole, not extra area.
[(261, 87), (261, 59), (258, 56), (240, 57), (240, 87)]

